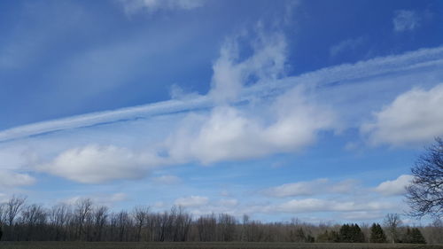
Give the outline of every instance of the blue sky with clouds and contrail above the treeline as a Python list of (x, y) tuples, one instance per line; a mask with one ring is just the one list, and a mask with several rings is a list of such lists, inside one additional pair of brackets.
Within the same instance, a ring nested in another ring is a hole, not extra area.
[(437, 0), (2, 1), (0, 202), (381, 222), (442, 68)]

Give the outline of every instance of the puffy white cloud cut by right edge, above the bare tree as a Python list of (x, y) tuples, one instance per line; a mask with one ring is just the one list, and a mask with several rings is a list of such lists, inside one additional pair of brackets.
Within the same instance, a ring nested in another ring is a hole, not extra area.
[(443, 135), (441, 106), (442, 83), (429, 90), (414, 88), (375, 113), (375, 121), (361, 125), (361, 132), (371, 144), (423, 144)]

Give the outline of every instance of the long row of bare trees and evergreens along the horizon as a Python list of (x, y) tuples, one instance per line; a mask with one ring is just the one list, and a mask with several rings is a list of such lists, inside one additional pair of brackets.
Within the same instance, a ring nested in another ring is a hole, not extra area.
[[(311, 224), (253, 221), (247, 215), (193, 217), (181, 206), (151, 212), (149, 206), (111, 212), (89, 198), (46, 208), (13, 197), (0, 205), (0, 239), (8, 241), (244, 241), (443, 243), (443, 222), (425, 227), (400, 224), (397, 214), (379, 224)], [(392, 222), (393, 221), (393, 222)]]

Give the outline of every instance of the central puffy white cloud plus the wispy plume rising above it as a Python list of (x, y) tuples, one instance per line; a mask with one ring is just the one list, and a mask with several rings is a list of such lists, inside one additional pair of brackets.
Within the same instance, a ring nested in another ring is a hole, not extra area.
[[(274, 99), (253, 99), (232, 105), (247, 84), (275, 81), (284, 74), (285, 41), (281, 34), (259, 32), (253, 54), (240, 58), (237, 40), (221, 48), (214, 63), (209, 96), (216, 105), (209, 114), (191, 113), (167, 139), (175, 160), (210, 164), (221, 160), (248, 160), (276, 152), (294, 152), (315, 142), (321, 130), (334, 128), (334, 113), (315, 103), (303, 86)], [(249, 82), (251, 79), (254, 82)]]

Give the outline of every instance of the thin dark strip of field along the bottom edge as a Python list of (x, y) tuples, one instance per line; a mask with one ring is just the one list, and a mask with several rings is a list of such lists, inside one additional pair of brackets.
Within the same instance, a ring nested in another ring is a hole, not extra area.
[(132, 242), (0, 242), (1, 249), (283, 249), (283, 248), (380, 248), (380, 249), (402, 249), (402, 248), (425, 248), (425, 249), (443, 249), (443, 245), (405, 245), (405, 244), (347, 244), (347, 243), (132, 243)]

